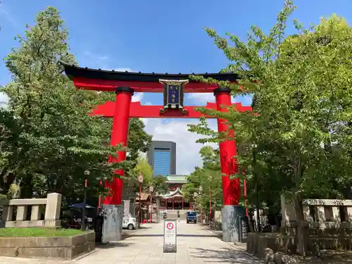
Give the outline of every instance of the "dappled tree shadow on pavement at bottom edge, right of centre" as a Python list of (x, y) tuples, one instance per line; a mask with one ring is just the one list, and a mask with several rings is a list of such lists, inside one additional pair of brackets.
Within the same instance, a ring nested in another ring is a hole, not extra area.
[[(203, 258), (206, 262), (212, 262), (215, 259), (217, 263), (232, 263), (237, 264), (253, 264), (263, 263), (262, 260), (251, 256), (249, 253), (243, 251), (236, 251), (235, 249), (202, 249), (202, 248), (189, 248), (189, 256), (193, 258)], [(206, 260), (208, 259), (208, 260)]]

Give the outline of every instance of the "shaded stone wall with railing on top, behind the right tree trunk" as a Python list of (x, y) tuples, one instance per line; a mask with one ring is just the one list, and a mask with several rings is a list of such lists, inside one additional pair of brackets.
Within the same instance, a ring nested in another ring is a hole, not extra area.
[[(352, 250), (352, 200), (303, 199), (303, 225), (309, 228), (310, 240), (320, 249)], [(284, 250), (289, 236), (294, 240), (298, 225), (294, 206), (291, 201), (281, 196), (282, 234), (249, 233), (247, 251), (265, 256), (265, 249), (274, 252)], [(289, 244), (294, 244), (290, 241)], [(296, 245), (291, 246), (296, 251)]]

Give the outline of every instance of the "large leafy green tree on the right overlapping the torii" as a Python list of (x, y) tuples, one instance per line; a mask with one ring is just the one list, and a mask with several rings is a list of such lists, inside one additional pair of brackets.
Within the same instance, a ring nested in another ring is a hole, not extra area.
[[(243, 165), (255, 151), (269, 182), (284, 179), (280, 189), (293, 199), (298, 251), (305, 255), (309, 236), (303, 228), (303, 197), (341, 195), (332, 182), (351, 184), (352, 31), (346, 20), (334, 15), (308, 29), (294, 21), (297, 34), (287, 37), (284, 30), (294, 9), (292, 1), (285, 1), (269, 34), (253, 26), (246, 43), (230, 33), (227, 39), (206, 29), (232, 63), (225, 71), (241, 78), (238, 84), (219, 84), (234, 94), (254, 94), (256, 114), (201, 111), (229, 120), (240, 142), (247, 143)], [(190, 130), (213, 133), (203, 123)]]

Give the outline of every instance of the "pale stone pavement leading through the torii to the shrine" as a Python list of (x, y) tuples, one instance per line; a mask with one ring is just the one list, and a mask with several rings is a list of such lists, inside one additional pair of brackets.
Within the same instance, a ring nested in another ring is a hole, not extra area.
[(228, 244), (200, 225), (177, 223), (177, 253), (163, 253), (163, 223), (139, 230), (127, 239), (111, 243), (84, 258), (72, 261), (1, 258), (1, 264), (200, 264), (262, 263), (234, 244)]

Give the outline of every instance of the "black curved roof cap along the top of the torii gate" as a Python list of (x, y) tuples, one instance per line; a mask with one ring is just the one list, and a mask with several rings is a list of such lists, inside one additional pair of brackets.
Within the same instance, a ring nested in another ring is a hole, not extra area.
[[(189, 75), (203, 76), (213, 78), (218, 81), (235, 82), (239, 76), (235, 73), (136, 73), (136, 72), (120, 72), (116, 70), (101, 70), (82, 68), (60, 61), (65, 68), (65, 74), (73, 80), (73, 77), (85, 77), (96, 80), (120, 80), (120, 81), (138, 81), (138, 82), (159, 82), (160, 79), (165, 80), (187, 80)], [(189, 80), (189, 82), (195, 82)]]

